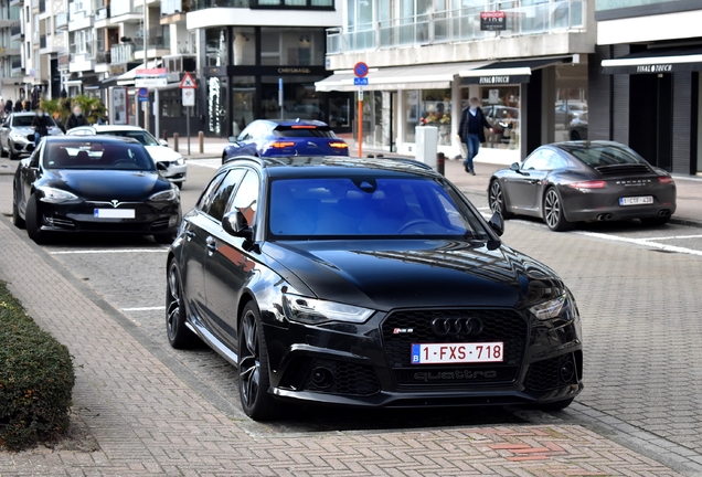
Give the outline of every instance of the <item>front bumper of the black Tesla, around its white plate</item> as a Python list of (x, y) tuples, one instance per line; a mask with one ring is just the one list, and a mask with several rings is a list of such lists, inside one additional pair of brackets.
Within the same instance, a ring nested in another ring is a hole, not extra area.
[(126, 202), (117, 209), (134, 209), (135, 219), (98, 219), (96, 209), (115, 209), (103, 202), (40, 202), (41, 230), (61, 233), (124, 233), (135, 235), (176, 234), (180, 225), (180, 202)]

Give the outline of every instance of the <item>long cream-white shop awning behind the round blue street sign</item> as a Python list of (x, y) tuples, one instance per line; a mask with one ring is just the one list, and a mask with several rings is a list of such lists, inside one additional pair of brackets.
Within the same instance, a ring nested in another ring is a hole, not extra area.
[[(364, 88), (369, 91), (446, 89), (450, 87), (454, 76), (459, 71), (468, 71), (487, 64), (488, 62), (444, 63), (371, 68), (368, 74), (369, 84)], [(354, 92), (359, 89), (359, 86), (353, 85), (353, 72), (340, 71), (315, 83), (315, 87), (318, 92)]]

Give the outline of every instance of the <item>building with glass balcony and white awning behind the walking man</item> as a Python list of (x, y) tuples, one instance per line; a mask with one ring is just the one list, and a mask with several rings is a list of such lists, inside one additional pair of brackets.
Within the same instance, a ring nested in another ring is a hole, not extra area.
[(542, 144), (568, 139), (572, 123), (587, 112), (594, 7), (594, 0), (344, 0), (342, 26), (327, 32), (333, 75), (317, 91), (358, 92), (352, 67), (365, 62), (364, 144), (412, 155), (415, 127), (434, 125), (449, 157), (460, 153), (460, 112), (477, 97), (494, 128), (481, 158), (519, 161)]

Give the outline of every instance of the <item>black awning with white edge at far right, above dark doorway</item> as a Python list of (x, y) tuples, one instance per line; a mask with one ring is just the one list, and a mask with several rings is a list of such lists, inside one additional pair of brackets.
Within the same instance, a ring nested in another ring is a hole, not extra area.
[(602, 61), (604, 74), (647, 74), (702, 71), (702, 47), (650, 49)]

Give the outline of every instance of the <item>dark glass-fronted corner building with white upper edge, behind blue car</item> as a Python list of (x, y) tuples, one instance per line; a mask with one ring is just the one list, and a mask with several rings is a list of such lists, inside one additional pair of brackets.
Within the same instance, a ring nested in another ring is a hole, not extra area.
[[(345, 92), (320, 93), (325, 31), (340, 26), (342, 0), (191, 0), (195, 33), (199, 127), (238, 135), (257, 118), (310, 118), (350, 130)], [(281, 100), (280, 100), (281, 99)], [(340, 105), (337, 107), (337, 105)]]

